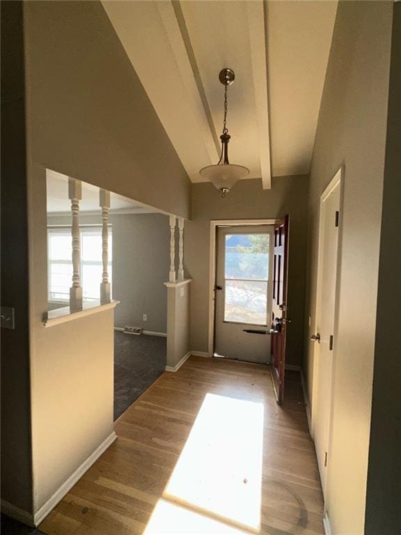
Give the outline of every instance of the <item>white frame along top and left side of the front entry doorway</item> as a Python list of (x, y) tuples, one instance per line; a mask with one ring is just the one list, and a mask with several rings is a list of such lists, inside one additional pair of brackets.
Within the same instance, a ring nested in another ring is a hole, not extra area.
[(210, 220), (210, 248), (209, 248), (209, 325), (207, 354), (214, 354), (214, 286), (216, 285), (216, 255), (217, 255), (217, 227), (219, 226), (259, 226), (274, 225), (280, 219), (211, 219)]

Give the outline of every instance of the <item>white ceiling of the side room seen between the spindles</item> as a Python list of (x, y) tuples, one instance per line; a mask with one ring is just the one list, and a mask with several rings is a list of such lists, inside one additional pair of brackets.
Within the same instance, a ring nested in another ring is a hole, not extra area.
[[(99, 188), (82, 182), (82, 199), (79, 201), (79, 212), (96, 212), (100, 215)], [(68, 176), (51, 169), (46, 173), (47, 213), (52, 215), (71, 214), (71, 201), (68, 199)], [(157, 212), (151, 208), (111, 192), (110, 213), (148, 214)]]

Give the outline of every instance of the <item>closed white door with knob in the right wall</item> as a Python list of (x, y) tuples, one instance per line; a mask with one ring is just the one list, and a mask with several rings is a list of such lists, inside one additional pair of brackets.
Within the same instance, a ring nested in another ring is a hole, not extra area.
[(331, 389), (333, 381), (334, 320), (336, 311), (336, 277), (338, 258), (338, 222), (340, 210), (340, 181), (333, 185), (320, 202), (319, 267), (317, 274), (316, 332), (317, 389), (315, 400), (315, 449), (322, 480), (326, 490), (329, 463), (329, 432), (331, 420)]

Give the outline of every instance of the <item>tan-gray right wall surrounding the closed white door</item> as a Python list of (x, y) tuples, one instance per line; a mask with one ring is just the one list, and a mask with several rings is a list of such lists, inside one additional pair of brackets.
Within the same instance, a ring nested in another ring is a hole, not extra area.
[[(386, 1), (338, 4), (310, 171), (307, 311), (312, 326), (306, 327), (306, 340), (315, 328), (320, 195), (340, 166), (345, 168), (327, 480), (336, 534), (362, 534), (365, 520), (392, 8)], [(306, 355), (314, 403), (312, 343)]]

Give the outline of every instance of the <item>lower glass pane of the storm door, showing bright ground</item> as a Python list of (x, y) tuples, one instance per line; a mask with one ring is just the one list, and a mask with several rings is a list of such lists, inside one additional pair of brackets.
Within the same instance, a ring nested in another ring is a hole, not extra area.
[(267, 281), (227, 279), (224, 321), (266, 325)]

